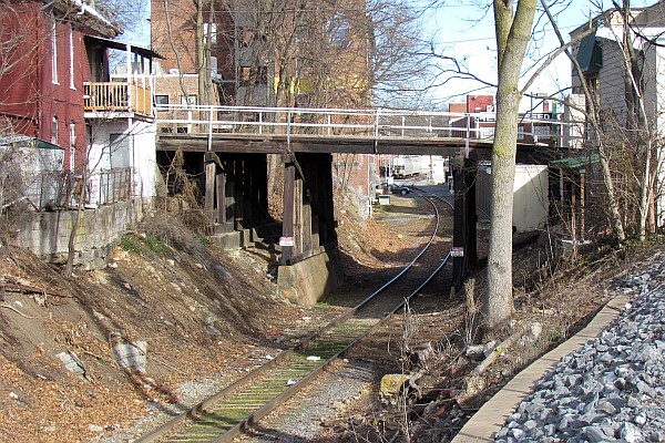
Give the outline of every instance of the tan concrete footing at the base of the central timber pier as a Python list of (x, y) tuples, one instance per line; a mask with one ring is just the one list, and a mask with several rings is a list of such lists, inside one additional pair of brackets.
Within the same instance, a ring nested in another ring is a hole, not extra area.
[(337, 249), (324, 250), (277, 271), (277, 292), (299, 306), (309, 307), (344, 282), (344, 270)]

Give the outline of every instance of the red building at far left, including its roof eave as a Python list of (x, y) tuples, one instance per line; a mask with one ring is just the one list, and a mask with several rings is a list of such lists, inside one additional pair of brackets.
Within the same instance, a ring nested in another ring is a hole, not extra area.
[(9, 3), (0, 7), (2, 41), (14, 48), (0, 54), (4, 127), (63, 147), (73, 171), (86, 150), (84, 81), (109, 72), (105, 49), (88, 38), (114, 38), (120, 29), (81, 0)]

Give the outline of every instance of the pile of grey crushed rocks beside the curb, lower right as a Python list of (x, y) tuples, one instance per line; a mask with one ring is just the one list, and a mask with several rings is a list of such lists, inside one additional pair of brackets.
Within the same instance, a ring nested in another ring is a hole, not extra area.
[(509, 416), (499, 442), (665, 442), (665, 262), (616, 289), (635, 296), (564, 357)]

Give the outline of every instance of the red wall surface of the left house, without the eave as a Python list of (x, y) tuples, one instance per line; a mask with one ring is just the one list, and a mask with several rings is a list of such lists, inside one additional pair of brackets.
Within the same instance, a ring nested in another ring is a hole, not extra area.
[[(83, 83), (90, 80), (90, 66), (83, 38), (90, 31), (60, 17), (55, 20), (58, 82), (53, 82), (51, 16), (42, 11), (42, 2), (17, 3), (16, 14), (4, 16), (3, 38), (12, 32), (25, 35), (19, 56), (4, 55), (14, 66), (0, 75), (0, 114), (10, 120), (13, 132), (52, 141), (53, 117), (58, 119), (58, 145), (65, 148), (65, 167), (70, 164), (70, 146), (75, 146), (76, 166), (85, 158), (85, 120)], [(29, 38), (28, 38), (29, 35)], [(12, 59), (12, 56), (14, 59)], [(71, 64), (73, 62), (73, 70)], [(73, 72), (73, 87), (71, 73)], [(74, 124), (75, 136), (70, 136)]]

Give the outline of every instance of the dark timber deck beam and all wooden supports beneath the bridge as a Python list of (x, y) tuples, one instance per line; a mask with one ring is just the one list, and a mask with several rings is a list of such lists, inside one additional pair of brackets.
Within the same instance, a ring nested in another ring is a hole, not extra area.
[[(273, 247), (280, 253), (279, 292), (294, 302), (311, 305), (341, 284), (331, 153), (432, 154), (452, 158), (457, 288), (477, 261), (475, 173), (478, 162), (491, 156), (489, 142), (423, 137), (377, 143), (368, 137), (161, 134), (162, 164), (167, 164), (176, 151), (185, 154), (188, 172), (202, 177), (204, 209), (215, 235), (239, 235), (237, 246), (257, 238), (278, 243), (278, 247)], [(546, 163), (552, 156), (551, 151), (541, 153), (532, 146), (521, 146), (518, 153), (522, 163)], [(270, 202), (269, 189), (275, 187), (268, 181), (275, 177), (283, 177), (283, 195)]]

